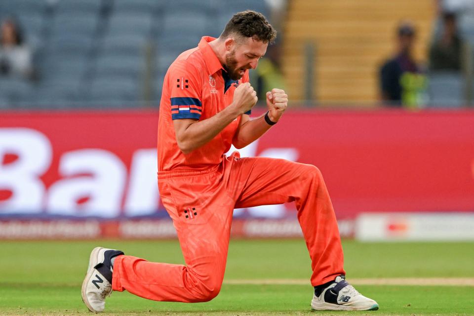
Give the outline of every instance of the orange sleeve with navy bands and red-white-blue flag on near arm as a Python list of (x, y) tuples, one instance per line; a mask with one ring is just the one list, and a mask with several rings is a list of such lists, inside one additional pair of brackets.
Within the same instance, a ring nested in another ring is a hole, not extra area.
[(202, 113), (202, 82), (198, 70), (185, 62), (178, 62), (170, 68), (171, 118), (199, 119)]

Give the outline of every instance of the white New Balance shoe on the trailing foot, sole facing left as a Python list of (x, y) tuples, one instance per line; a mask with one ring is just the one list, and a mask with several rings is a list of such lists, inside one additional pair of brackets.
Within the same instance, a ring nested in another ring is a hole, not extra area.
[(90, 253), (89, 267), (82, 282), (82, 301), (89, 311), (102, 312), (105, 298), (112, 293), (112, 257), (123, 255), (120, 250), (95, 247)]

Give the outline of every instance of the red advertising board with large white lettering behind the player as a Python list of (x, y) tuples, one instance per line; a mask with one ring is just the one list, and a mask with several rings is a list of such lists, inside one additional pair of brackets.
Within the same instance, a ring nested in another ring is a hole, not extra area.
[[(158, 111), (146, 110), (0, 113), (0, 238), (31, 219), (76, 225), (82, 237), (127, 236), (138, 224), (171, 234), (152, 223), (169, 221), (156, 185), (157, 125)], [(474, 211), (474, 111), (288, 109), (241, 156), (318, 166), (341, 220)], [(236, 235), (257, 236), (252, 223), (270, 219), (271, 236), (294, 213), (293, 204), (236, 210)]]

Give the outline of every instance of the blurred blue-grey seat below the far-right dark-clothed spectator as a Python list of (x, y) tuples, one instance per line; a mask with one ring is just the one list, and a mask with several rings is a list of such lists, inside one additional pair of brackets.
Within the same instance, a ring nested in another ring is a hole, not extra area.
[(429, 75), (430, 107), (461, 107), (464, 99), (464, 78), (458, 72), (435, 72)]

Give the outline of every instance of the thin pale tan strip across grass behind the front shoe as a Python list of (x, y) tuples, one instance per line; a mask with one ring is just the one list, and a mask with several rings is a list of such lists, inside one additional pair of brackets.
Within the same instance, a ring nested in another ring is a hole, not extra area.
[[(474, 286), (474, 277), (394, 277), (394, 278), (348, 278), (354, 285), (460, 285)], [(224, 284), (282, 284), (311, 285), (309, 279), (234, 279), (224, 280)]]

